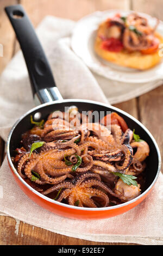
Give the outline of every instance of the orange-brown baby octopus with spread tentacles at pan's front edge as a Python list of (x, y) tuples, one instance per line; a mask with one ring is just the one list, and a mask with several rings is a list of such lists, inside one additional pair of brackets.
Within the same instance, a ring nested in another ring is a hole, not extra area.
[(58, 202), (66, 199), (68, 204), (80, 207), (97, 208), (99, 204), (105, 207), (109, 205), (109, 197), (106, 193), (108, 192), (116, 196), (116, 194), (101, 181), (98, 174), (91, 172), (78, 175), (70, 181), (64, 181), (54, 185), (45, 192), (42, 192), (42, 194), (46, 195), (53, 191), (58, 191), (59, 189), (61, 189), (61, 193), (57, 199)]

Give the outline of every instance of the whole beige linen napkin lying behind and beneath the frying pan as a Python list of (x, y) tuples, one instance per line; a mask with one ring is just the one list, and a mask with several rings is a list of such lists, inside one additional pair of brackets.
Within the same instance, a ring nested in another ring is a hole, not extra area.
[[(68, 36), (73, 26), (73, 21), (46, 17), (37, 28), (60, 93), (64, 99), (108, 102), (106, 87), (110, 86), (109, 80), (106, 82), (105, 78), (92, 74), (69, 47)], [(26, 65), (22, 53), (18, 52), (0, 78), (0, 136), (7, 139), (12, 124), (32, 107), (34, 102)], [(148, 198), (125, 214), (97, 221), (70, 220), (52, 214), (30, 200), (12, 177), (7, 159), (0, 169), (1, 215), (9, 215), (55, 233), (97, 242), (162, 245), (162, 193), (163, 178), (160, 174)]]

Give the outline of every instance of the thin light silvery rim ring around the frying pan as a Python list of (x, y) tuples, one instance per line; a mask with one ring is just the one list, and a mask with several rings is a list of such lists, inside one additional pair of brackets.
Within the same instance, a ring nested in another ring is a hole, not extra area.
[[(60, 203), (60, 202), (57, 202), (57, 201), (55, 201), (55, 200), (53, 200), (51, 198), (48, 198), (48, 197), (44, 196), (40, 192), (37, 192), (36, 190), (34, 190), (34, 188), (32, 188), (30, 185), (28, 185), (27, 182), (24, 181), (22, 179), (22, 177), (17, 173), (17, 170), (14, 167), (14, 164), (12, 163), (11, 156), (10, 156), (10, 139), (11, 139), (11, 136), (12, 136), (12, 132), (14, 132), (14, 130), (15, 130), (15, 127), (18, 125), (18, 123), (20, 123), (20, 121), (23, 118), (25, 118), (28, 114), (36, 111), (37, 109), (40, 109), (42, 107), (46, 107), (46, 106), (49, 106), (49, 105), (55, 105), (55, 103), (66, 103), (66, 102), (70, 102), (70, 101), (71, 102), (78, 102), (78, 103), (79, 102), (81, 102), (81, 103), (93, 103), (93, 104), (96, 104), (96, 105), (99, 105), (99, 106), (109, 107), (112, 110), (120, 112), (120, 113), (126, 115), (128, 118), (130, 118), (133, 121), (135, 121), (135, 123), (137, 123), (138, 125), (140, 125), (142, 127), (142, 129), (145, 130), (145, 132), (148, 134), (148, 136), (152, 139), (152, 142), (153, 142), (153, 144), (155, 146), (155, 149), (156, 149), (156, 152), (158, 154), (158, 170), (157, 170), (157, 173), (155, 175), (155, 178), (154, 178), (152, 184), (147, 188), (147, 190), (145, 190), (142, 194), (140, 194), (140, 196), (138, 196), (138, 197), (136, 197), (136, 198), (126, 202), (126, 203), (122, 203), (122, 204), (115, 205), (115, 206), (107, 206), (107, 207), (103, 207), (103, 208), (83, 208), (83, 207), (79, 207), (79, 206), (73, 206), (73, 205), (68, 205), (68, 204)], [(65, 208), (71, 208), (73, 210), (81, 210), (81, 211), (109, 211), (109, 210), (112, 210), (112, 209), (123, 208), (123, 207), (125, 207), (125, 206), (127, 206), (129, 204), (133, 204), (134, 202), (136, 202), (136, 200), (142, 198), (149, 190), (151, 190), (151, 188), (154, 186), (156, 180), (158, 180), (160, 169), (161, 169), (161, 155), (160, 155), (160, 150), (159, 150), (158, 144), (156, 143), (156, 141), (155, 141), (153, 135), (151, 134), (151, 132), (149, 132), (148, 129), (143, 124), (141, 124), (139, 120), (137, 120), (136, 118), (134, 118), (132, 115), (128, 114), (127, 112), (122, 111), (121, 109), (116, 108), (114, 106), (111, 106), (111, 105), (109, 105), (107, 103), (102, 103), (102, 102), (92, 101), (92, 100), (82, 100), (82, 99), (66, 99), (66, 100), (57, 100), (57, 101), (53, 101), (53, 102), (43, 103), (43, 104), (41, 104), (39, 106), (36, 106), (36, 107), (30, 109), (25, 114), (23, 114), (15, 122), (15, 124), (12, 126), (12, 128), (11, 128), (11, 130), (9, 132), (8, 139), (7, 139), (7, 158), (8, 158), (8, 162), (9, 162), (10, 167), (12, 168), (12, 171), (14, 172), (14, 174), (34, 194), (36, 194), (37, 196), (41, 197), (42, 199), (45, 199), (46, 201), (51, 202), (53, 204), (57, 204), (57, 205), (60, 205), (62, 207), (65, 207)]]

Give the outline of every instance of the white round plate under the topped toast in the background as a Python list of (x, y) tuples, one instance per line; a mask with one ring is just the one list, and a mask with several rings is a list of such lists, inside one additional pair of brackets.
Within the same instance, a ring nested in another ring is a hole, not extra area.
[[(121, 13), (126, 16), (131, 11), (124, 10), (108, 10), (108, 11), (96, 11), (91, 15), (83, 17), (79, 20), (74, 28), (71, 47), (73, 51), (83, 59), (84, 63), (98, 75), (102, 75), (106, 78), (115, 81), (127, 82), (127, 83), (147, 83), (163, 78), (163, 62), (154, 66), (146, 71), (140, 71), (136, 69), (124, 68), (111, 62), (99, 58), (93, 49), (95, 37), (99, 24), (106, 20), (108, 17), (114, 16), (116, 13)], [(140, 13), (141, 16), (145, 16), (149, 24), (154, 27), (156, 19), (147, 14)], [(157, 28), (163, 36), (163, 22), (160, 21)], [(161, 50), (162, 51), (162, 50)], [(163, 53), (163, 51), (162, 51)]]

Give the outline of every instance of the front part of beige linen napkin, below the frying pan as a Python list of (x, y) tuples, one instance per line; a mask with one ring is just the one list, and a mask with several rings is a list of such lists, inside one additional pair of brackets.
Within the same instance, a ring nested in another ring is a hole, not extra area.
[(163, 177), (134, 209), (105, 220), (71, 220), (41, 208), (15, 182), (5, 158), (0, 170), (0, 212), (58, 234), (97, 242), (163, 245)]

